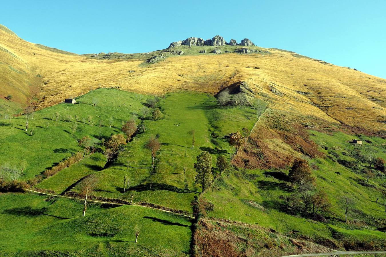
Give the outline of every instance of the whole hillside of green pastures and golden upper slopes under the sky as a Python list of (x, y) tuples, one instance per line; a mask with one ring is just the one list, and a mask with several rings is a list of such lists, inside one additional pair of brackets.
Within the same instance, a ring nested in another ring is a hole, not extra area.
[[(187, 40), (77, 55), (0, 27), (0, 255), (385, 250), (386, 80), (285, 50)], [(203, 191), (195, 163), (206, 152)], [(305, 185), (291, 175), (297, 159)]]

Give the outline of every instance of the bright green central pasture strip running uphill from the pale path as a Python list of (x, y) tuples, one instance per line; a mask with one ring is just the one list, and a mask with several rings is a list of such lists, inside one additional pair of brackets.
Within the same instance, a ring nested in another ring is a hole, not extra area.
[[(158, 121), (142, 119), (145, 132), (137, 134), (124, 146), (117, 160), (97, 174), (99, 183), (95, 195), (130, 200), (130, 191), (135, 191), (135, 202), (151, 202), (191, 212), (190, 203), (200, 191), (194, 183), (196, 156), (201, 151), (209, 151), (213, 167), (218, 155), (229, 159), (234, 148), (224, 136), (244, 127), (251, 129), (257, 120), (256, 110), (250, 107), (220, 108), (214, 97), (194, 92), (166, 94), (159, 107), (164, 118)], [(192, 136), (188, 134), (191, 130), (195, 130), (194, 148), (191, 148)], [(216, 138), (212, 137), (213, 133)], [(151, 135), (157, 136), (162, 144), (154, 169), (151, 168), (150, 151), (144, 148)], [(123, 193), (124, 176), (130, 180), (126, 193)]]

